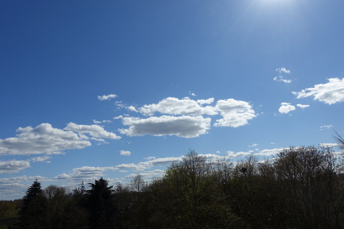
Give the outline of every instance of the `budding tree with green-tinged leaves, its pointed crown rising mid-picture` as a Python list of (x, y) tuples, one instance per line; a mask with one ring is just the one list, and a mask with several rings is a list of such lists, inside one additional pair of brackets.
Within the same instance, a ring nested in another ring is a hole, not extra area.
[(216, 184), (212, 162), (194, 150), (154, 179), (150, 228), (234, 228), (237, 217)]

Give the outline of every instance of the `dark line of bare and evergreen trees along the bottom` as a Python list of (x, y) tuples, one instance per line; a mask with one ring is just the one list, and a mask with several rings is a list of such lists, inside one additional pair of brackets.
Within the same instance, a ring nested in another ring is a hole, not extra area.
[[(344, 141), (337, 135), (338, 147)], [(343, 152), (343, 151), (342, 151)], [(233, 162), (189, 150), (146, 185), (109, 186), (100, 178), (68, 193), (37, 180), (11, 228), (340, 229), (344, 228), (343, 154), (324, 146), (290, 147), (261, 161)]]

